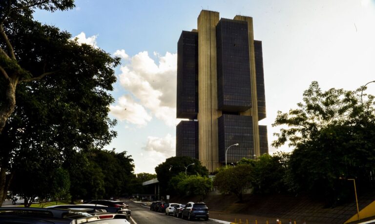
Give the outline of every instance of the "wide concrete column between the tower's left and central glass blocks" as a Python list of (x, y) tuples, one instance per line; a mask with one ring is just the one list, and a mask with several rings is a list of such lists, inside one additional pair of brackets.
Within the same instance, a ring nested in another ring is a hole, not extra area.
[(219, 167), (216, 24), (219, 13), (202, 10), (198, 17), (199, 160), (209, 172)]

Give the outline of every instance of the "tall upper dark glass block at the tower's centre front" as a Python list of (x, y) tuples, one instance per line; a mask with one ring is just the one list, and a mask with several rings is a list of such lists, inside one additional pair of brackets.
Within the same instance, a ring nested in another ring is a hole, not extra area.
[(250, 56), (246, 21), (219, 21), (216, 25), (216, 54), (219, 110), (243, 112), (250, 109)]

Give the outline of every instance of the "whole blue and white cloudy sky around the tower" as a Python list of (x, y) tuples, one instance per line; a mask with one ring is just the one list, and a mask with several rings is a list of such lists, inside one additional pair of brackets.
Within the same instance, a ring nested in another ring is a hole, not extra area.
[[(375, 80), (375, 0), (77, 0), (69, 11), (38, 11), (36, 20), (122, 57), (110, 107), (118, 137), (105, 148), (127, 151), (136, 173), (154, 173), (175, 155), (177, 41), (197, 27), (202, 9), (253, 18), (263, 42), (267, 118), (260, 124), (268, 125), (269, 144), (277, 110), (295, 108), (312, 81), (354, 90)], [(375, 84), (366, 91), (374, 95)]]

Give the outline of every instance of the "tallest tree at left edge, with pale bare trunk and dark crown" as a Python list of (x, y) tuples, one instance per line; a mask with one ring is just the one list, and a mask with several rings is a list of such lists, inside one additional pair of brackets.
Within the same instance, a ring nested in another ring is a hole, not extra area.
[(69, 151), (102, 148), (116, 136), (107, 91), (120, 60), (32, 18), (35, 8), (73, 6), (73, 0), (0, 1), (0, 198), (22, 151), (43, 147), (69, 160)]

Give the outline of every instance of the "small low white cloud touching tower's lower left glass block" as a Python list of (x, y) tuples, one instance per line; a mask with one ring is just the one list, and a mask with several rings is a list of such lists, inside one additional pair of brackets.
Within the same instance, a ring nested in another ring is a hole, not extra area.
[(162, 153), (169, 158), (175, 156), (176, 139), (170, 134), (167, 134), (164, 138), (148, 136), (147, 144), (143, 149)]

